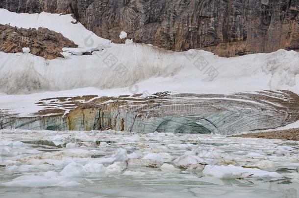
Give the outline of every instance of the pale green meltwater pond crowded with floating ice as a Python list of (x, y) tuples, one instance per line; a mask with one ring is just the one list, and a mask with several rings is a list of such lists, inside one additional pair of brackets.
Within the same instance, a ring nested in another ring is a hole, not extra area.
[(1, 198), (297, 198), (298, 142), (0, 130)]

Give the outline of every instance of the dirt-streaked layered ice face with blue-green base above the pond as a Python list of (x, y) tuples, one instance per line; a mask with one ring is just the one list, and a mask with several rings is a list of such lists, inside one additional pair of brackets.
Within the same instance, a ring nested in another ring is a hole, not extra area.
[(0, 129), (237, 134), (299, 120), (299, 96), (290, 91), (229, 95), (165, 92), (150, 97), (90, 95), (43, 99), (37, 105), (45, 109), (31, 117), (6, 113), (0, 118)]

